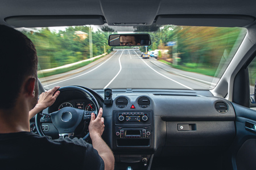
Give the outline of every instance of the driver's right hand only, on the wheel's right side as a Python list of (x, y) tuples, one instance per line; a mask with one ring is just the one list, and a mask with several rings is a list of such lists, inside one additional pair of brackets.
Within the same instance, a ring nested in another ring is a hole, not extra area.
[(95, 135), (102, 135), (104, 131), (104, 118), (102, 117), (102, 108), (98, 111), (98, 116), (95, 118), (95, 114), (92, 113), (89, 125), (90, 138), (93, 138)]

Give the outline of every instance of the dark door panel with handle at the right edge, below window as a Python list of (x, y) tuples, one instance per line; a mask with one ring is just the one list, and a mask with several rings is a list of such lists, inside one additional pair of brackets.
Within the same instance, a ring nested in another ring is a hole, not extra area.
[(233, 169), (256, 169), (256, 111), (232, 104), (236, 112), (236, 138), (231, 147)]

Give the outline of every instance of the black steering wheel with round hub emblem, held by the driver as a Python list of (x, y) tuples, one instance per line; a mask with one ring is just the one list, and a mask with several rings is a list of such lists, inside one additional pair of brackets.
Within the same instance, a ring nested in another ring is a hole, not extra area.
[[(94, 113), (95, 116), (97, 116), (97, 113), (99, 111), (99, 105), (96, 100), (96, 98), (84, 88), (77, 87), (77, 86), (66, 86), (59, 88), (60, 94), (65, 91), (73, 91), (73, 92), (79, 92), (82, 94), (86, 99), (88, 95), (90, 96), (91, 100), (94, 102), (96, 106), (96, 110), (94, 112), (88, 112), (84, 111), (83, 109), (77, 109), (72, 107), (64, 107), (60, 109), (59, 111), (47, 113), (44, 114), (43, 117), (40, 117), (38, 114), (36, 114), (35, 117), (35, 126), (38, 130), (38, 134), (40, 136), (44, 136), (42, 130), (42, 124), (47, 123), (49, 124), (48, 130), (50, 127), (53, 128), (53, 126), (56, 128), (56, 130), (59, 133), (59, 137), (72, 137), (75, 134), (75, 129), (82, 121), (90, 121), (90, 114)], [(51, 126), (53, 124), (53, 126)], [(47, 126), (43, 126), (43, 128), (46, 128)], [(46, 129), (44, 129), (46, 130)], [(89, 133), (86, 134), (83, 137), (84, 140), (89, 139)]]

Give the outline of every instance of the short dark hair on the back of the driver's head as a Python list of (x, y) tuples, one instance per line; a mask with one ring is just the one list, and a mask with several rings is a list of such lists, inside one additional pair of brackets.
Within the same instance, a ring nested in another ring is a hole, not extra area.
[(14, 107), (27, 76), (37, 78), (38, 57), (34, 44), (14, 28), (0, 25), (0, 108)]

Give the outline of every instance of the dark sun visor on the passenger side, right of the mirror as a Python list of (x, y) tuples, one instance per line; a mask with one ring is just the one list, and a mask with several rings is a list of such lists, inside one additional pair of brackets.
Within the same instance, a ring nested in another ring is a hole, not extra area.
[(158, 25), (184, 25), (205, 27), (245, 27), (255, 18), (249, 15), (158, 15)]

